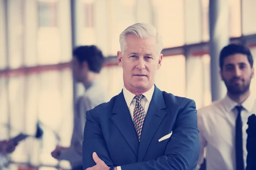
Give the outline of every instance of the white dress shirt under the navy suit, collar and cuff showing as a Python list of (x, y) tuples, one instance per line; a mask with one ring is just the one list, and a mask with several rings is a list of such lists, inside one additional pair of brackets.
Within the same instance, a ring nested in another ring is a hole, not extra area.
[[(143, 93), (143, 99), (141, 100), (140, 104), (144, 108), (145, 115), (148, 112), (148, 107), (151, 102), (152, 96), (154, 93), (154, 85), (151, 87), (151, 89), (145, 93)], [(125, 102), (129, 108), (130, 114), (131, 114), (131, 119), (133, 120), (133, 113), (134, 113), (134, 108), (136, 104), (136, 99), (134, 97), (136, 96), (135, 94), (132, 94), (130, 91), (128, 91), (125, 87), (123, 88), (123, 94), (125, 97)], [(121, 167), (117, 167), (117, 170), (122, 170)]]

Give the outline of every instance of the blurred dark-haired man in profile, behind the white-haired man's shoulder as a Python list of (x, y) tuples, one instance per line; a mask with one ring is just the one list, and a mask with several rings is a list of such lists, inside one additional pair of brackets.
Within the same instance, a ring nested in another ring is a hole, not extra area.
[(73, 49), (71, 61), (73, 78), (84, 85), (85, 93), (75, 103), (74, 127), (70, 147), (56, 146), (52, 157), (70, 162), (73, 170), (82, 170), (82, 141), (86, 111), (105, 102), (98, 77), (104, 65), (102, 51), (95, 45)]

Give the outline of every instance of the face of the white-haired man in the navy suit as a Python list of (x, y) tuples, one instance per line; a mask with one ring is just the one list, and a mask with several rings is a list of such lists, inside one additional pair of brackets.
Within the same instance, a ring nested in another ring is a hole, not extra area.
[(125, 50), (117, 52), (118, 64), (123, 68), (125, 88), (149, 90), (154, 85), (155, 74), (163, 58), (162, 54), (157, 54), (157, 40), (155, 37), (140, 39), (128, 35), (125, 42)]

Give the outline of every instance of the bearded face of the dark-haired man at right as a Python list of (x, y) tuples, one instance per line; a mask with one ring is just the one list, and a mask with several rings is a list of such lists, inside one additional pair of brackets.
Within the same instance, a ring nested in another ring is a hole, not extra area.
[(254, 69), (251, 68), (246, 55), (234, 54), (224, 59), (220, 74), (228, 93), (240, 95), (249, 90)]

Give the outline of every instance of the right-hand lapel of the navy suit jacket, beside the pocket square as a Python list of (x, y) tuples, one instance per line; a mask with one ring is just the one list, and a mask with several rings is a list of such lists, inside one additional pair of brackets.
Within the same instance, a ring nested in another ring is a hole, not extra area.
[(143, 161), (148, 150), (149, 144), (154, 137), (154, 134), (166, 115), (166, 112), (161, 110), (166, 108), (162, 91), (156, 86), (152, 96), (148, 112), (143, 125), (143, 130), (140, 138), (140, 146), (138, 153), (138, 161)]

